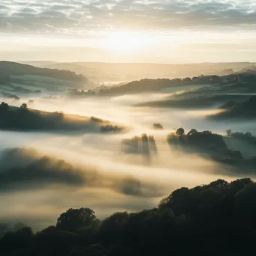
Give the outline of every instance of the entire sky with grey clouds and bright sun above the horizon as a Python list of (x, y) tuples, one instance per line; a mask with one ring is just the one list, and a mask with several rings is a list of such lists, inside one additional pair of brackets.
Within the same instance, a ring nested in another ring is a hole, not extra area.
[(0, 59), (256, 61), (254, 0), (0, 0)]

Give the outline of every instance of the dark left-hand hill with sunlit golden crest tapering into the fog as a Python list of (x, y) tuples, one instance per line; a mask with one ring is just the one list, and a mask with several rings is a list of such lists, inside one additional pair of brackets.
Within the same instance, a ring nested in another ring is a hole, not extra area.
[(66, 115), (62, 112), (43, 112), (28, 109), (26, 104), (17, 108), (1, 103), (0, 115), (0, 129), (3, 130), (86, 133), (120, 132), (124, 129), (100, 118), (85, 118), (79, 115)]

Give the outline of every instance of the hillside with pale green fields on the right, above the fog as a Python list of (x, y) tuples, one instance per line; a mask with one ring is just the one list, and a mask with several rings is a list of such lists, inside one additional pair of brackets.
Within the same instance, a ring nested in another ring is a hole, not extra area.
[[(250, 73), (183, 79), (180, 80), (181, 86), (178, 85), (176, 91), (168, 90), (171, 93), (168, 97), (139, 103), (136, 106), (182, 109), (222, 108), (228, 102), (239, 103), (256, 94), (255, 82), (256, 75)], [(117, 89), (110, 88), (106, 93), (111, 91), (117, 91)]]

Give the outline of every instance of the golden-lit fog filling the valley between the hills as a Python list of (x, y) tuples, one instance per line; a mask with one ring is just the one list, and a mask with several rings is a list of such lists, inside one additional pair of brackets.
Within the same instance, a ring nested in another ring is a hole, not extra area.
[[(70, 207), (91, 207), (103, 219), (117, 211), (155, 207), (180, 186), (196, 186), (223, 178), (234, 180), (219, 163), (169, 147), (166, 136), (179, 127), (186, 131), (227, 129), (252, 132), (253, 123), (216, 123), (213, 112), (186, 109), (132, 107), (163, 94), (136, 94), (111, 99), (69, 100), (67, 97), (33, 97), (31, 109), (103, 118), (129, 127), (118, 134), (56, 134), (51, 132), (0, 132), (0, 222), (18, 221), (34, 230), (54, 225)], [(31, 98), (11, 105), (20, 106)], [(6, 100), (7, 101), (7, 100)], [(160, 123), (164, 129), (152, 129)], [(153, 135), (156, 152), (127, 153), (122, 141), (135, 135)], [(253, 132), (252, 132), (253, 133)], [(14, 149), (14, 150), (13, 150)], [(21, 169), (20, 169), (21, 168)], [(222, 173), (223, 168), (223, 173)]]

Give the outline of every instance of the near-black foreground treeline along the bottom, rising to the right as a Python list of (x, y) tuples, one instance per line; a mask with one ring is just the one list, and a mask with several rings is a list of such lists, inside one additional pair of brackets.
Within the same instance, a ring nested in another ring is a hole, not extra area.
[(36, 234), (20, 225), (7, 232), (0, 240), (0, 254), (245, 255), (254, 250), (255, 197), (256, 183), (244, 178), (183, 187), (163, 198), (158, 207), (114, 213), (103, 221), (89, 208), (70, 208), (55, 225)]

